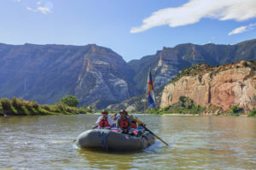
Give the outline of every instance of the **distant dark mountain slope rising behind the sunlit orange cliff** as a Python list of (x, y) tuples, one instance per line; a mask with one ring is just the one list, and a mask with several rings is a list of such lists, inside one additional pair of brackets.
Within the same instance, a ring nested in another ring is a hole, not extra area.
[(256, 60), (256, 39), (240, 42), (236, 45), (195, 45), (185, 43), (174, 48), (163, 48), (154, 55), (142, 59), (131, 60), (129, 65), (136, 71), (134, 81), (143, 93), (146, 87), (146, 75), (151, 68), (154, 87), (160, 88), (172, 80), (183, 68), (198, 63), (209, 65), (223, 65), (240, 60)]

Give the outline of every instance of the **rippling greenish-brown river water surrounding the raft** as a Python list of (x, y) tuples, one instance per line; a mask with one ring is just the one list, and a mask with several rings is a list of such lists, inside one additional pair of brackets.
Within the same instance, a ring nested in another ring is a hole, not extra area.
[(72, 143), (96, 115), (0, 117), (0, 170), (256, 169), (256, 119), (233, 116), (138, 116), (159, 140), (114, 153)]

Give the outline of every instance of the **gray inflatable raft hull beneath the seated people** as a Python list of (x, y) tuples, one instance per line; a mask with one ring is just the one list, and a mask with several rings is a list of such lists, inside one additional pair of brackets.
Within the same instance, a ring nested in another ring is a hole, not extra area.
[(91, 129), (81, 133), (77, 139), (81, 148), (98, 148), (103, 150), (143, 150), (154, 144), (151, 133), (143, 133), (142, 137), (116, 133), (107, 129)]

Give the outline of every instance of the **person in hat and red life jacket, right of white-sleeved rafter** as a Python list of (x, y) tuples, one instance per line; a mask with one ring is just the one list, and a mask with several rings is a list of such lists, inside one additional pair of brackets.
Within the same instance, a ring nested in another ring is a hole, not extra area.
[(116, 126), (121, 130), (122, 133), (129, 133), (131, 129), (131, 120), (127, 117), (127, 111), (119, 111), (121, 115), (117, 120)]

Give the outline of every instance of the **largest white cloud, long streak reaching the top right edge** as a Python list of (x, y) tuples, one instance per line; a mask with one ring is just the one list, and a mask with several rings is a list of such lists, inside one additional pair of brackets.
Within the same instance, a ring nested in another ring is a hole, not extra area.
[(155, 26), (185, 26), (202, 18), (217, 20), (248, 20), (256, 17), (255, 0), (190, 0), (177, 8), (164, 8), (143, 20), (143, 26), (132, 27), (131, 33)]

